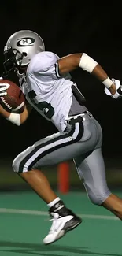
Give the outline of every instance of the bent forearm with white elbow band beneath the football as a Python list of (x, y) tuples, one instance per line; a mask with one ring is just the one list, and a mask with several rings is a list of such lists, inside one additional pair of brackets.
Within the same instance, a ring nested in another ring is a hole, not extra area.
[(9, 113), (0, 105), (0, 114), (2, 115), (2, 117), (5, 117), (8, 121), (20, 126), (20, 124), (24, 124), (24, 122), (27, 120), (29, 114), (31, 113), (31, 109), (31, 105), (27, 103), (24, 106), (23, 113)]

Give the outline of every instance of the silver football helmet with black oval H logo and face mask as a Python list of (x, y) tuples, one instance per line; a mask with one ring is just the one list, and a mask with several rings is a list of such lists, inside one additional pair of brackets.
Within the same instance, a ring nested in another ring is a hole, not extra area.
[(28, 65), (35, 54), (44, 50), (43, 39), (31, 30), (20, 30), (11, 35), (4, 47), (6, 76), (13, 69)]

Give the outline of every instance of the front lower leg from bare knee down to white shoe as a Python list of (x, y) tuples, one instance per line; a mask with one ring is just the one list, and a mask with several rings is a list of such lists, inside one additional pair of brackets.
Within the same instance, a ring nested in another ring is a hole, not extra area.
[(49, 213), (53, 224), (50, 232), (43, 239), (43, 243), (54, 243), (64, 236), (66, 232), (76, 228), (82, 222), (81, 218), (76, 216), (72, 210), (69, 210), (65, 203), (54, 193), (46, 176), (39, 169), (21, 173), (20, 176), (31, 185), (36, 194), (50, 207)]

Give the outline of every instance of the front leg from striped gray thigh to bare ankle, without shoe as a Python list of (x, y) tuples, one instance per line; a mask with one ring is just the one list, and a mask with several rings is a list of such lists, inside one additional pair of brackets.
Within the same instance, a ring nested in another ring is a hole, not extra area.
[[(39, 171), (41, 166), (54, 165), (73, 158), (74, 151), (79, 152), (80, 145), (76, 144), (79, 136), (79, 124), (69, 133), (60, 133), (46, 137), (20, 153), (13, 161), (13, 169), (46, 203), (52, 202), (57, 195), (51, 190), (46, 176)], [(82, 132), (81, 132), (82, 133)], [(75, 135), (75, 138), (73, 137)], [(80, 136), (79, 136), (80, 139)], [(72, 150), (74, 148), (74, 150)], [(71, 150), (70, 150), (71, 149)]]

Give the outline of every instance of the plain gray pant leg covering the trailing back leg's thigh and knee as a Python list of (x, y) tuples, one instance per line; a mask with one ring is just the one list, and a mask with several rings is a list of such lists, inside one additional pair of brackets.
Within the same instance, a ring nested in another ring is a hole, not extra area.
[(106, 184), (101, 148), (90, 152), (89, 155), (84, 154), (83, 158), (76, 158), (75, 163), (79, 178), (83, 179), (84, 187), (91, 202), (99, 206), (102, 205), (105, 199), (111, 195), (111, 192)]

